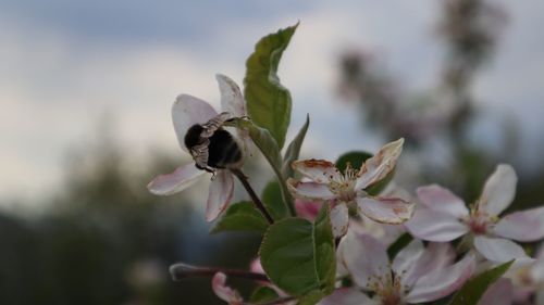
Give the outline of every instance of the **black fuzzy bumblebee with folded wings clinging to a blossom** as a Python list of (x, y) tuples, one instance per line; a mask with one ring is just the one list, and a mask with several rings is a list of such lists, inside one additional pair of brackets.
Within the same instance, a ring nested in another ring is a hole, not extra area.
[(223, 129), (231, 114), (220, 113), (205, 124), (195, 124), (185, 134), (184, 143), (198, 169), (215, 174), (218, 168), (238, 168), (243, 153), (236, 139)]

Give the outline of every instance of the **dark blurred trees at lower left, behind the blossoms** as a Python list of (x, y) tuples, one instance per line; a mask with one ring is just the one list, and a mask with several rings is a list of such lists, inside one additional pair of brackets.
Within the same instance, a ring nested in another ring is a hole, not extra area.
[(249, 267), (258, 237), (209, 237), (183, 193), (148, 193), (180, 162), (154, 153), (134, 166), (118, 143), (104, 137), (73, 151), (64, 191), (42, 215), (0, 215), (0, 304), (222, 304), (210, 279), (173, 282), (168, 266)]

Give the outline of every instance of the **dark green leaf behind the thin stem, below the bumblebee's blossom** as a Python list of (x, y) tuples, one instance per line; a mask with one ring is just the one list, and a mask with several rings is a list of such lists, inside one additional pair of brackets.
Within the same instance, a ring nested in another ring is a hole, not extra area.
[(268, 227), (269, 224), (267, 219), (254, 204), (248, 201), (243, 201), (231, 204), (211, 232), (250, 231), (263, 233)]

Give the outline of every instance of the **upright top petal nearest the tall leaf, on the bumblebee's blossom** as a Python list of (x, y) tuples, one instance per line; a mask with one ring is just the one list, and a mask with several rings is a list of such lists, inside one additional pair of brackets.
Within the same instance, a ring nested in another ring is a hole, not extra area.
[(222, 74), (217, 74), (215, 79), (221, 92), (221, 111), (228, 112), (235, 117), (245, 116), (246, 103), (238, 85)]

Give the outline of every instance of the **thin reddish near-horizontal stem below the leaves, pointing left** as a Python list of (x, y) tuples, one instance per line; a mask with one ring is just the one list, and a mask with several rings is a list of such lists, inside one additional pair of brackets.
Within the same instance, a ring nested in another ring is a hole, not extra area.
[(174, 281), (195, 277), (213, 277), (217, 272), (223, 272), (227, 277), (270, 282), (269, 278), (263, 274), (256, 274), (239, 269), (198, 267), (184, 263), (170, 266), (170, 275)]

